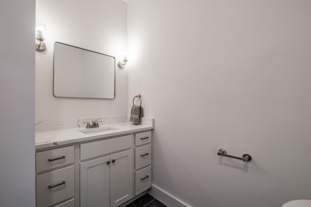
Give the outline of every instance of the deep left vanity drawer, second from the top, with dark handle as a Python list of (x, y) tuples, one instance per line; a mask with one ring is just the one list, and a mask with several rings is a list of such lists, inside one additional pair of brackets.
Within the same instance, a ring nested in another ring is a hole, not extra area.
[(74, 166), (36, 175), (36, 206), (48, 207), (74, 196)]

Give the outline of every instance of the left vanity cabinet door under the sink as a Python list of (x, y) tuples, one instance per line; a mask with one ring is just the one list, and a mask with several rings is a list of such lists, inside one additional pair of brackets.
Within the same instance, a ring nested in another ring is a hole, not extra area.
[(110, 206), (110, 156), (80, 164), (81, 207)]

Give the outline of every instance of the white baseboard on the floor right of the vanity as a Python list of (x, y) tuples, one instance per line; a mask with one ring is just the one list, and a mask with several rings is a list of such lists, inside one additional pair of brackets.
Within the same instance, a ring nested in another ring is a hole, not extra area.
[(170, 193), (160, 189), (159, 187), (155, 186), (154, 184), (151, 185), (151, 189), (148, 190), (148, 193), (159, 200), (167, 207), (191, 207), (190, 205), (186, 204), (185, 202), (179, 200), (178, 198), (174, 197)]

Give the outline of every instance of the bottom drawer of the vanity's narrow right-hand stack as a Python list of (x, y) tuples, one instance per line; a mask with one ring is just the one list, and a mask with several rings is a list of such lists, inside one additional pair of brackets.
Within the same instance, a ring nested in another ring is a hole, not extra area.
[(151, 188), (151, 166), (135, 172), (135, 195)]

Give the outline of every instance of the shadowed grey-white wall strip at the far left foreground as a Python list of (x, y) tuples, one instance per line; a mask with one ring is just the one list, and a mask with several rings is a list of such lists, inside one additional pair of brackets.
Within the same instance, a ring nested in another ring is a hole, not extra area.
[(0, 28), (0, 206), (35, 207), (35, 0), (2, 0)]

